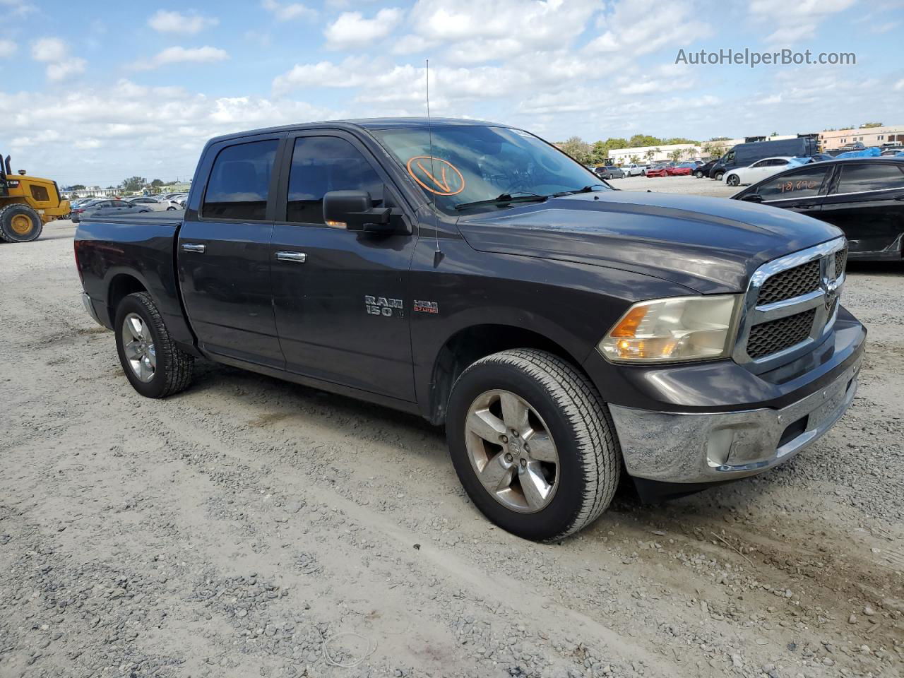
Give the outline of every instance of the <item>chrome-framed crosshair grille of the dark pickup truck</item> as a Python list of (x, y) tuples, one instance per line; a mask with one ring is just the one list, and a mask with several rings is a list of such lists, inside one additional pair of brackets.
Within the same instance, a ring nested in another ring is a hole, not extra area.
[(843, 238), (763, 264), (750, 278), (735, 361), (766, 372), (812, 351), (832, 330), (844, 284)]

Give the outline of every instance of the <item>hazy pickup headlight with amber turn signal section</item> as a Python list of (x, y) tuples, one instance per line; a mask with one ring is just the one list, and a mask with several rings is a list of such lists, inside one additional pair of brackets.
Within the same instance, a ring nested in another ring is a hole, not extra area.
[(599, 342), (613, 363), (723, 358), (731, 353), (740, 295), (641, 301)]

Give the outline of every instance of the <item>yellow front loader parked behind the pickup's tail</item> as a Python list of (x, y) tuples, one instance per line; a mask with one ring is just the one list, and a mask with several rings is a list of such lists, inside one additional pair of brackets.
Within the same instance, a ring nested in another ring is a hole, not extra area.
[(0, 241), (37, 240), (45, 223), (69, 216), (69, 201), (52, 179), (13, 174), (9, 160), (0, 155)]

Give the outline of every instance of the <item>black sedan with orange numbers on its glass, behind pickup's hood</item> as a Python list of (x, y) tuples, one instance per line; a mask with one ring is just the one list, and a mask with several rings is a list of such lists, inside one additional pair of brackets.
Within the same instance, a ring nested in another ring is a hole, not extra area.
[(856, 157), (795, 167), (731, 196), (800, 212), (847, 236), (850, 259), (901, 259), (904, 159)]

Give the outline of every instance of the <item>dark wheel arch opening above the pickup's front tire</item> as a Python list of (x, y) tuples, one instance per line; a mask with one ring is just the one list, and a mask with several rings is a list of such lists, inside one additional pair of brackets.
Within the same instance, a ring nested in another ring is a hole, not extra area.
[(580, 360), (546, 334), (516, 325), (468, 325), (449, 336), (433, 361), (427, 412), (430, 423), (445, 423), (452, 386), (469, 365), (487, 355), (515, 348), (532, 348), (552, 353), (579, 372), (584, 372)]

